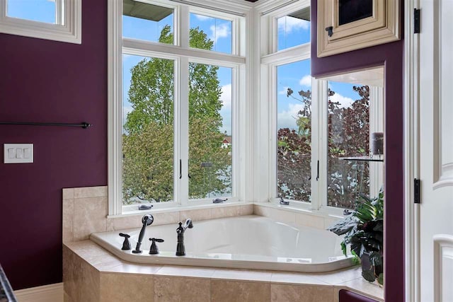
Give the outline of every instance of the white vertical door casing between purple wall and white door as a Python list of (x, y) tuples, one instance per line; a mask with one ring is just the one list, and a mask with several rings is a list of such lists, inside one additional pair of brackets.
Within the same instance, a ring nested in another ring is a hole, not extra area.
[(420, 178), (419, 38), (413, 33), (413, 10), (419, 0), (404, 5), (404, 238), (406, 301), (420, 302), (420, 204), (413, 203), (413, 180)]

